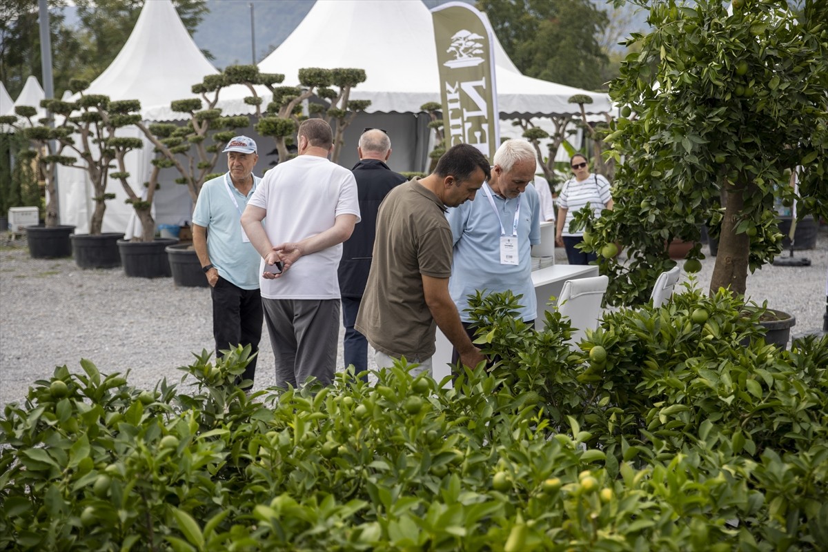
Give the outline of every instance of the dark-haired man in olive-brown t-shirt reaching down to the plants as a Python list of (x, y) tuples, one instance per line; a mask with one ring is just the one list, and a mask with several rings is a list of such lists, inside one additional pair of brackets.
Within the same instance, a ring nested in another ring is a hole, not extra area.
[(436, 326), (465, 366), (485, 361), (449, 295), (452, 238), (445, 208), (474, 199), (489, 175), (489, 160), (459, 144), (431, 175), (398, 185), (380, 205), (373, 264), (354, 324), (377, 350), (378, 368), (405, 357), (420, 364), (417, 372), (431, 372)]

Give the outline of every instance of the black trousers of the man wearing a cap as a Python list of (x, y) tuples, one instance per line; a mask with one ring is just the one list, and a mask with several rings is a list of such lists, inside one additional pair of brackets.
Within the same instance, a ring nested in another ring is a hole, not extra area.
[[(257, 290), (243, 290), (219, 276), (210, 291), (213, 297), (213, 337), (215, 356), (237, 345), (250, 345), (251, 353), (258, 353), (262, 340), (262, 294)], [(253, 381), (258, 356), (244, 369), (242, 379)]]

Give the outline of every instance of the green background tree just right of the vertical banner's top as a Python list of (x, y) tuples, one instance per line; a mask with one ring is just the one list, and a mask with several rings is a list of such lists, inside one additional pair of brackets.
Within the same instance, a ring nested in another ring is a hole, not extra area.
[(604, 88), (601, 37), (609, 19), (590, 0), (478, 0), (523, 74), (581, 89)]

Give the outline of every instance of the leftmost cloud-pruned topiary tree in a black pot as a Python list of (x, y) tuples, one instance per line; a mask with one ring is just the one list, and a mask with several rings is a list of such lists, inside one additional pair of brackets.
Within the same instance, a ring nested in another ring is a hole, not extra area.
[[(17, 164), (12, 168), (9, 182), (14, 190), (8, 190), (7, 198), (12, 199), (13, 202), (12, 196), (15, 196), (22, 203), (36, 202), (38, 207), (41, 206), (36, 176), (31, 175), (26, 178), (25, 175), (31, 172), (31, 162), (36, 162), (37, 170), (46, 179), (46, 217), (45, 224), (26, 227), (29, 254), (32, 258), (69, 257), (72, 254), (70, 235), (75, 231), (75, 227), (59, 223), (55, 176), (59, 163), (72, 163), (75, 158), (62, 155), (65, 145), (56, 140), (62, 131), (55, 129), (46, 119), (34, 120), (37, 115), (35, 107), (19, 105), (15, 107), (15, 113), (15, 115), (0, 117), (0, 124), (12, 127), (15, 135), (22, 137), (21, 145), (30, 147), (24, 147), (17, 152)], [(34, 182), (26, 186), (26, 180), (34, 180)], [(28, 194), (26, 190), (29, 190)], [(12, 204), (4, 206), (3, 214), (6, 214), (8, 207), (14, 206)]]

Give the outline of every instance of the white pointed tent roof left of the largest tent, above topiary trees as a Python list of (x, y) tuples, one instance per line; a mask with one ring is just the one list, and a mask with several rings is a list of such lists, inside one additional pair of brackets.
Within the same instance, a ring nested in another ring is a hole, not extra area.
[(144, 2), (127, 43), (85, 94), (138, 99), (144, 118), (170, 121), (182, 118), (170, 103), (195, 97), (193, 84), (218, 72), (195, 45), (171, 0), (152, 0)]

